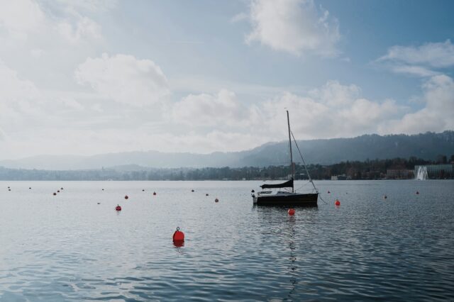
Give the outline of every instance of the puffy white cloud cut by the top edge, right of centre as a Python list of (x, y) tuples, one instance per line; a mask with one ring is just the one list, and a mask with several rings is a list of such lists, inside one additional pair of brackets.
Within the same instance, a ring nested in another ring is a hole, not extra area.
[(249, 21), (252, 31), (246, 37), (247, 43), (257, 41), (293, 55), (310, 52), (333, 57), (339, 53), (338, 21), (312, 0), (254, 0)]

